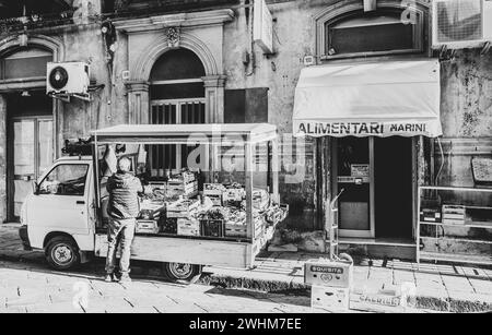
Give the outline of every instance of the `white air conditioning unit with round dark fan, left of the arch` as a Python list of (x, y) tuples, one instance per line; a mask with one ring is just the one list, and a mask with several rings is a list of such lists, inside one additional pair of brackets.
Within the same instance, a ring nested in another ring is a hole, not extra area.
[(84, 62), (48, 63), (46, 93), (48, 95), (87, 95), (89, 64)]

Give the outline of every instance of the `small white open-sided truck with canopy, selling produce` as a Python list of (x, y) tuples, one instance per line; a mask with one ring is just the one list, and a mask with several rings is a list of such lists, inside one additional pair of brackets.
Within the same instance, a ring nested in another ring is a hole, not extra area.
[[(255, 256), (271, 239), (274, 225), (254, 228), (251, 167), (254, 148), (259, 143), (269, 146), (272, 159), (269, 177), (262, 179), (272, 199), (278, 200), (278, 135), (270, 124), (160, 124), (117, 125), (92, 133), (92, 156), (69, 156), (56, 160), (36, 182), (26, 198), (21, 213), (20, 236), (26, 249), (42, 249), (56, 270), (69, 270), (93, 256), (105, 258), (107, 237), (104, 227), (105, 184), (101, 172), (102, 148), (108, 145), (189, 145), (189, 135), (200, 133), (210, 153), (218, 153), (229, 135), (244, 140), (246, 172), (247, 235), (244, 238), (213, 238), (169, 234), (137, 235), (132, 259), (163, 262), (167, 274), (175, 279), (190, 279), (201, 265), (250, 267)], [(197, 140), (198, 141), (198, 140)], [(198, 144), (198, 142), (197, 142)], [(138, 155), (138, 154), (137, 154)], [(210, 155), (210, 166), (216, 164)], [(213, 175), (213, 172), (212, 172)], [(211, 175), (211, 176), (212, 176)], [(267, 184), (268, 183), (268, 184)], [(257, 184), (255, 184), (257, 187)]]

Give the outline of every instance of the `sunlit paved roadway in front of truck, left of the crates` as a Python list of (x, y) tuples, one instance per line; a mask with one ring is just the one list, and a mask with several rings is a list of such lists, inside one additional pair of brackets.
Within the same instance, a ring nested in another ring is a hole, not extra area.
[[(85, 300), (86, 298), (86, 300)], [(284, 313), (311, 312), (307, 297), (139, 278), (130, 285), (42, 265), (0, 262), (0, 313)]]

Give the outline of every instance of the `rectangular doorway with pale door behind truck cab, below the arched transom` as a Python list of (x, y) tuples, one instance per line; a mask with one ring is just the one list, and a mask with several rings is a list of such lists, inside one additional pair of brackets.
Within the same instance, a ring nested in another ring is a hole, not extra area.
[(43, 93), (8, 98), (8, 219), (19, 220), (21, 206), (54, 160), (52, 100)]

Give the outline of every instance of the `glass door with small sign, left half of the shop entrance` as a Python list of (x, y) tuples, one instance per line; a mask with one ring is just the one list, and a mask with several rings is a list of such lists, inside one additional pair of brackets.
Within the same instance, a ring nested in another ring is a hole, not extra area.
[[(374, 139), (337, 139), (333, 149), (335, 192), (341, 237), (374, 238)], [(335, 196), (333, 195), (333, 196)]]

